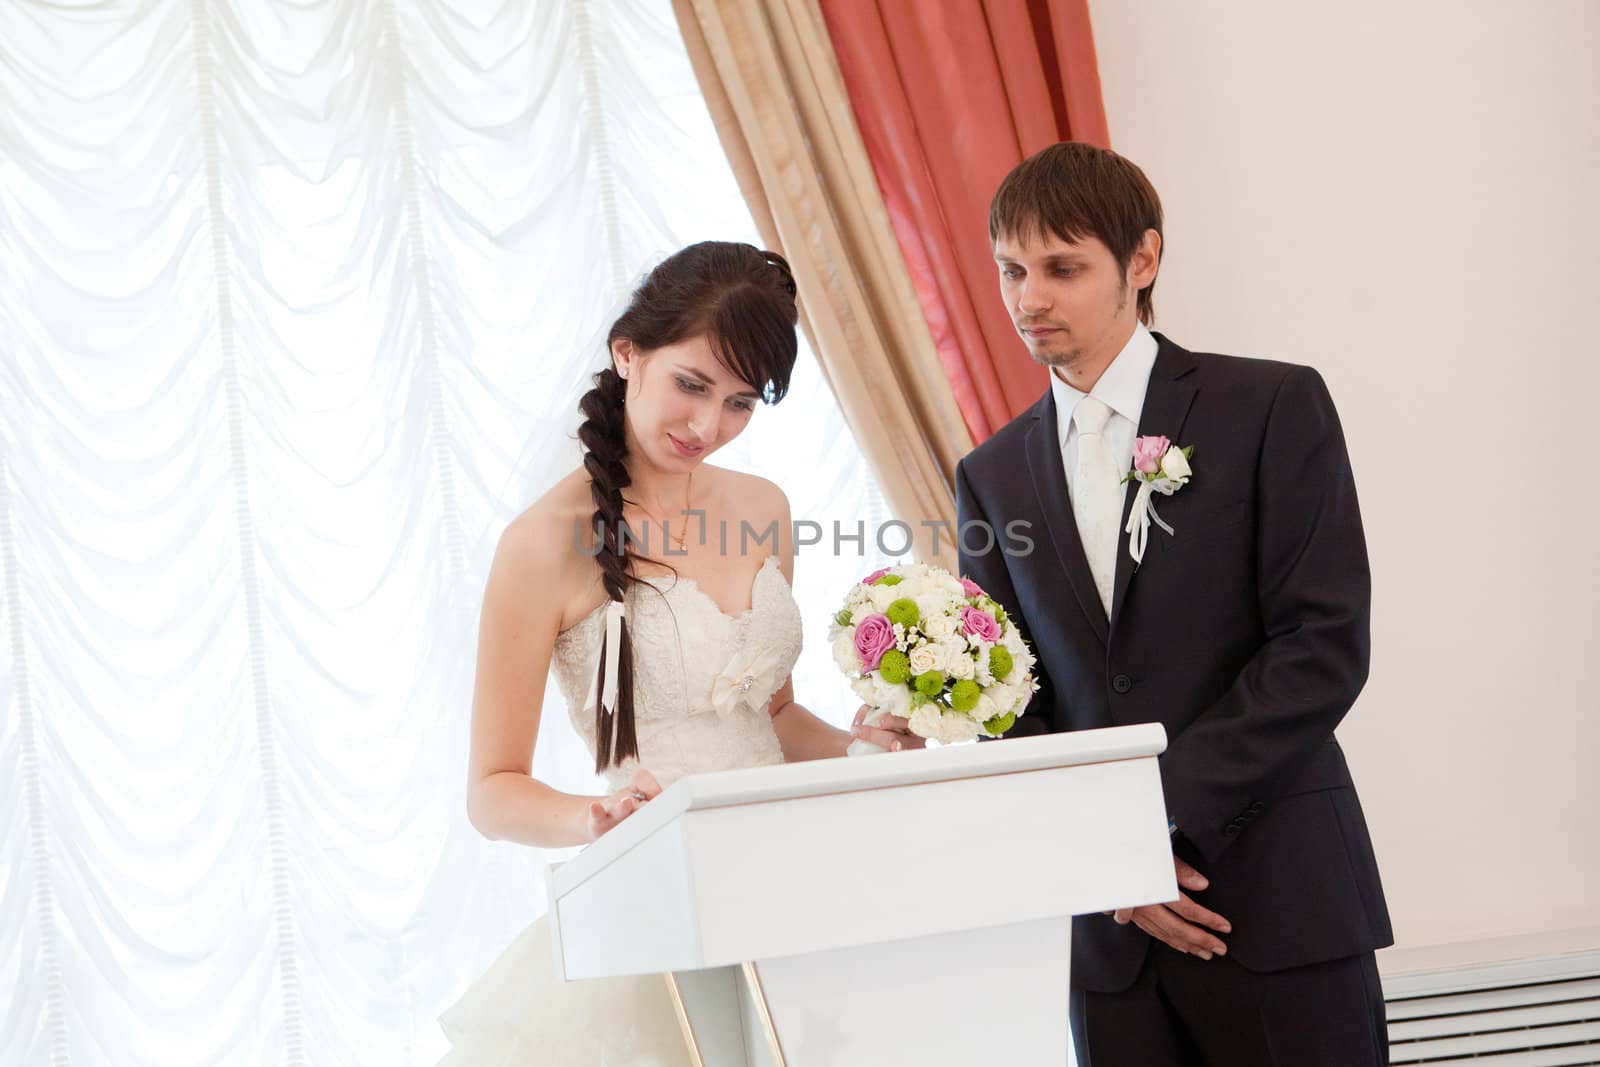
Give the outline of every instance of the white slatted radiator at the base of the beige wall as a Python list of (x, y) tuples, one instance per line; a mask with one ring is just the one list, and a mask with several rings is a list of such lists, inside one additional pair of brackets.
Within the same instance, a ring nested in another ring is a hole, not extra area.
[(1600, 952), (1386, 974), (1392, 1064), (1600, 1064)]

